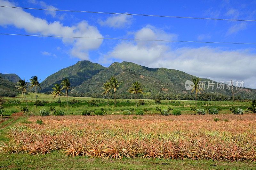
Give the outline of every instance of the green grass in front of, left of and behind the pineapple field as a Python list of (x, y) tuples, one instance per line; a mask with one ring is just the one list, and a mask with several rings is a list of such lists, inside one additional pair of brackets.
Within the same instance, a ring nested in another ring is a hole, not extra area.
[[(52, 95), (38, 94), (38, 100), (48, 100), (55, 101), (52, 99)], [(6, 100), (21, 100), (20, 104), (4, 104), (4, 109), (6, 110), (5, 115), (11, 115), (14, 112), (20, 110), (20, 106), (26, 106), (22, 96), (17, 97), (5, 97)], [(100, 99), (103, 101), (99, 106), (90, 106), (86, 101), (92, 100), (93, 98), (76, 97), (76, 100), (81, 101), (81, 103), (69, 104), (69, 107), (61, 107), (59, 103), (46, 103), (45, 106), (34, 106), (35, 94), (29, 93), (27, 95), (29, 113), (28, 115), (38, 115), (39, 110), (48, 109), (50, 106), (56, 108), (56, 110), (61, 109), (64, 111), (65, 115), (70, 115), (74, 112), (74, 115), (81, 115), (83, 109), (95, 109), (100, 110), (104, 108), (107, 110), (108, 114), (121, 114), (122, 110), (128, 110), (134, 108), (135, 110), (145, 109), (149, 110), (148, 114), (158, 113), (155, 111), (156, 106), (166, 109), (171, 106), (173, 109), (182, 110), (182, 114), (193, 113), (190, 110), (191, 106), (195, 105), (195, 101), (180, 101), (180, 103), (170, 103), (168, 100), (162, 100), (161, 104), (156, 105), (154, 100), (145, 100), (146, 104), (143, 106), (136, 107), (135, 100), (129, 100), (132, 102), (126, 102), (127, 100), (118, 99), (118, 104), (116, 107), (113, 105), (113, 99), (110, 99), (110, 106), (107, 106), (107, 99)], [(69, 97), (69, 100), (75, 99), (74, 97)], [(61, 96), (61, 100), (65, 101), (66, 97)], [(235, 106), (237, 108), (247, 108), (249, 102), (215, 102), (211, 101), (211, 108), (221, 108), (220, 114), (230, 113), (228, 108), (230, 106)], [(63, 102), (62, 105), (65, 103)], [(206, 104), (209, 105), (207, 101)], [(198, 108), (204, 108), (205, 102), (199, 101), (197, 103)], [(133, 112), (133, 114), (135, 114)], [(147, 114), (147, 113), (146, 113)], [(51, 113), (50, 113), (51, 115)], [(124, 117), (125, 118), (125, 117)], [(6, 137), (8, 132), (8, 127), (15, 124), (29, 124), (28, 116), (24, 117), (11, 117), (10, 119), (4, 121), (0, 124), (0, 141), (7, 142), (9, 138)], [(133, 119), (141, 119), (139, 116), (133, 116)], [(228, 120), (227, 120), (228, 121)], [(63, 156), (60, 152), (52, 152), (46, 155), (28, 155), (22, 154), (4, 154), (0, 153), (0, 169), (256, 169), (255, 163), (229, 163), (229, 162), (212, 162), (211, 160), (154, 160), (154, 159), (91, 159), (87, 157), (69, 157)]]

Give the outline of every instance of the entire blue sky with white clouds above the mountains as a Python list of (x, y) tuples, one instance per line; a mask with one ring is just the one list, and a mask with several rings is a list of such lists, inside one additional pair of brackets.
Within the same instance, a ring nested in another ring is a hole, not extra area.
[[(256, 20), (256, 1), (3, 1), (3, 6)], [(22, 10), (0, 7), (0, 33), (255, 43), (256, 22)], [(79, 60), (130, 61), (256, 88), (255, 45), (0, 35), (0, 72), (43, 81)]]

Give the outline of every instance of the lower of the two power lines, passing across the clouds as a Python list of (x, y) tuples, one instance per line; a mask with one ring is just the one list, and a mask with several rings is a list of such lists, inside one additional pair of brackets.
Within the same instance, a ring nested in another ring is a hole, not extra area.
[(70, 36), (55, 36), (55, 35), (29, 35), (29, 34), (4, 34), (4, 33), (0, 33), (0, 35), (19, 35), (19, 36), (56, 37), (56, 38), (116, 39), (116, 40), (138, 40), (138, 41), (162, 41), (162, 42), (189, 42), (189, 43), (249, 44), (249, 45), (256, 45), (256, 43), (240, 43), (240, 42), (178, 41), (178, 40), (160, 40), (160, 39), (121, 39), (121, 38), (70, 37)]

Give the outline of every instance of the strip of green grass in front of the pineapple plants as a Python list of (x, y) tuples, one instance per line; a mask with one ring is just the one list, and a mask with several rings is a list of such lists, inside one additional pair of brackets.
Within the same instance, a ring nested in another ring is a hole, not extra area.
[(0, 169), (256, 169), (255, 163), (212, 162), (210, 160), (90, 159), (66, 157), (58, 152), (46, 155), (0, 154)]

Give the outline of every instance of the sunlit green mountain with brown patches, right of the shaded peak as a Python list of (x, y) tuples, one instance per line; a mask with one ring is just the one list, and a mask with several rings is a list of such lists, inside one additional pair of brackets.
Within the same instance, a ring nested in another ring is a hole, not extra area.
[[(129, 94), (127, 90), (133, 82), (140, 81), (145, 91), (143, 96), (139, 96), (140, 98), (194, 99), (194, 95), (190, 94), (191, 90), (187, 91), (185, 89), (185, 82), (186, 80), (192, 80), (195, 76), (179, 70), (148, 68), (131, 62), (113, 63), (108, 68), (101, 70), (92, 76), (92, 78), (73, 89), (72, 94), (76, 94), (77, 96), (102, 97), (102, 84), (109, 80), (111, 76), (115, 76), (118, 81), (123, 81), (117, 92), (119, 98), (133, 98), (134, 96)], [(201, 81), (205, 81), (205, 89), (207, 89), (208, 81), (210, 83), (212, 82), (212, 80), (204, 78)], [(232, 92), (226, 89), (226, 87), (227, 85), (225, 85), (224, 90), (220, 90), (216, 89), (215, 85), (214, 89), (209, 88), (205, 90), (205, 93), (201, 97), (204, 100), (219, 100), (219, 98), (223, 97), (230, 99)], [(256, 97), (255, 89), (244, 88), (235, 89), (234, 91), (236, 98), (253, 99)]]

